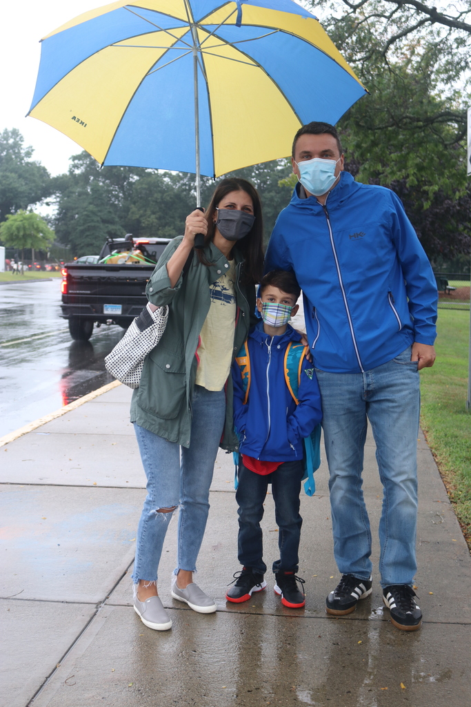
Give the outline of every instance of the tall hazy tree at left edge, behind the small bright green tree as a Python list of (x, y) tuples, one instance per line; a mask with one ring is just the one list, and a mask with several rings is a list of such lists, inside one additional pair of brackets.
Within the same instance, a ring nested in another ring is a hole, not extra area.
[(30, 159), (32, 152), (16, 128), (0, 133), (0, 221), (52, 193), (49, 172)]

